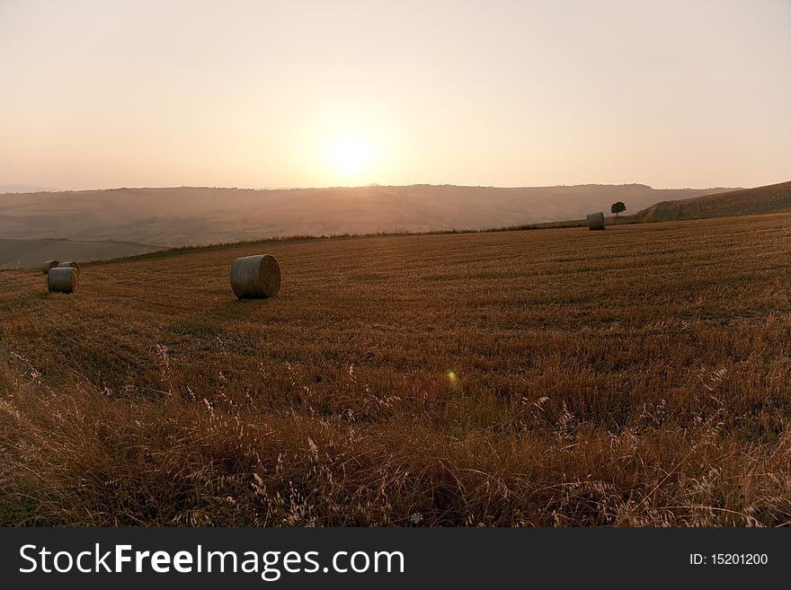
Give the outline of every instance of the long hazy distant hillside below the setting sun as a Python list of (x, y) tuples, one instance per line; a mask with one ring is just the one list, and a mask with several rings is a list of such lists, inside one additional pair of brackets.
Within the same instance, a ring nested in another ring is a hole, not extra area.
[[(158, 246), (306, 234), (486, 229), (580, 219), (615, 201), (636, 211), (723, 189), (642, 184), (524, 189), (412, 185), (334, 189), (108, 189), (0, 194), (5, 239)], [(0, 260), (0, 264), (8, 260)]]

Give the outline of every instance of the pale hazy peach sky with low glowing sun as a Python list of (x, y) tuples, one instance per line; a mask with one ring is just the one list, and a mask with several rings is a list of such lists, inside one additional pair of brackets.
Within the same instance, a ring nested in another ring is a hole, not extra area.
[(791, 0), (0, 0), (0, 186), (791, 180)]

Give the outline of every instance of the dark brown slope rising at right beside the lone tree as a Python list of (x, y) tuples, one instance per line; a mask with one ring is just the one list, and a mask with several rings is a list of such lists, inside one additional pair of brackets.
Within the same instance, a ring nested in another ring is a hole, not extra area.
[(791, 211), (791, 182), (732, 190), (703, 197), (662, 201), (635, 214), (637, 221), (669, 221), (760, 215)]

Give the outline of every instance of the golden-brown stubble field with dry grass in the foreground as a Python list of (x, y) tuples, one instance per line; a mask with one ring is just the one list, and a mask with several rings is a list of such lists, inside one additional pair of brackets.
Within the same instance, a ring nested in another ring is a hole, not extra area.
[[(781, 525), (791, 214), (0, 273), (0, 522)], [(239, 256), (280, 295), (238, 302)]]

